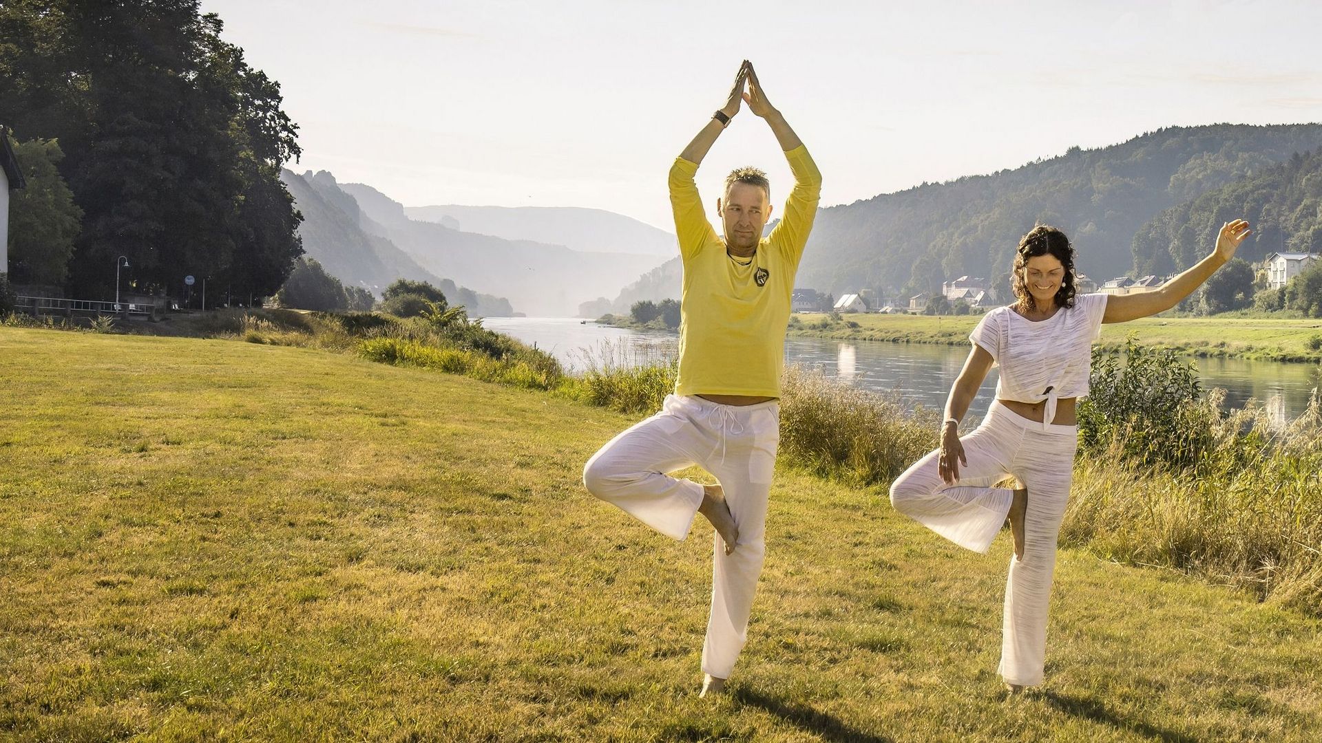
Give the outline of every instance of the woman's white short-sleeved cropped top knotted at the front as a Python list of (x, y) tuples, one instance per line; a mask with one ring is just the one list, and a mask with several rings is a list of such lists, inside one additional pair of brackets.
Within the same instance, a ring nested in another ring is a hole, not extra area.
[(990, 353), (1001, 368), (997, 399), (1046, 401), (1042, 426), (1050, 426), (1059, 398), (1088, 394), (1092, 341), (1101, 334), (1105, 312), (1104, 293), (1076, 295), (1073, 307), (1062, 307), (1036, 323), (1009, 307), (988, 312), (969, 340)]

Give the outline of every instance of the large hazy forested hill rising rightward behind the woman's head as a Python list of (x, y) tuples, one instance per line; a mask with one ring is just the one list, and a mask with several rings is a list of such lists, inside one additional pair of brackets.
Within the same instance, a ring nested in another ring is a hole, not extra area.
[[(1001, 276), (1038, 221), (1069, 235), (1081, 272), (1132, 274), (1134, 235), (1157, 214), (1319, 145), (1322, 124), (1173, 127), (832, 206), (817, 213), (796, 286), (917, 292), (962, 274)], [(1138, 272), (1151, 272), (1149, 264)]]

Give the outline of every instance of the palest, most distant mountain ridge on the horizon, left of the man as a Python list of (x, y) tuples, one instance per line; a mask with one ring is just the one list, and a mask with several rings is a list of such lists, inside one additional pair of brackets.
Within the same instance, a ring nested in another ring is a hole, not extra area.
[(420, 222), (465, 233), (563, 245), (579, 253), (674, 255), (676, 237), (624, 214), (578, 206), (406, 206)]

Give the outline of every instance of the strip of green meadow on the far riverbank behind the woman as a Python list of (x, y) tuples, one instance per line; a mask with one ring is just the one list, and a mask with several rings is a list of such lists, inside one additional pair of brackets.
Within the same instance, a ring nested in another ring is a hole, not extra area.
[[(801, 313), (791, 320), (791, 336), (818, 336), (874, 341), (951, 344), (969, 342), (980, 316), (828, 315)], [(854, 323), (858, 327), (850, 327)], [(1322, 320), (1263, 317), (1145, 317), (1103, 325), (1101, 345), (1120, 348), (1134, 333), (1138, 341), (1190, 356), (1224, 356), (1257, 361), (1322, 361)], [(1313, 338), (1318, 338), (1313, 341)], [(1318, 348), (1310, 348), (1310, 341)]]

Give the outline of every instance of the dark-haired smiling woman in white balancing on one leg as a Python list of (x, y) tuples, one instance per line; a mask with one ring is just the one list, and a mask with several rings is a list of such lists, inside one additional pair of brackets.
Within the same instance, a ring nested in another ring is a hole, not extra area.
[[(1235, 255), (1248, 222), (1222, 226), (1216, 249), (1153, 292), (1075, 296), (1073, 247), (1039, 225), (1019, 241), (1011, 284), (1018, 301), (988, 312), (951, 387), (941, 448), (891, 485), (891, 504), (952, 542), (986, 553), (1010, 520), (1014, 557), (1005, 591), (1001, 677), (1011, 693), (1042, 684), (1047, 600), (1056, 535), (1077, 447), (1075, 402), (1088, 394), (1092, 341), (1103, 323), (1125, 323), (1175, 307)], [(960, 419), (993, 365), (995, 397), (976, 431)], [(1018, 489), (993, 488), (1014, 477)]]

